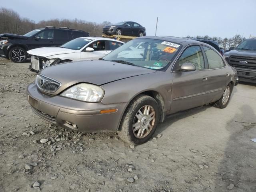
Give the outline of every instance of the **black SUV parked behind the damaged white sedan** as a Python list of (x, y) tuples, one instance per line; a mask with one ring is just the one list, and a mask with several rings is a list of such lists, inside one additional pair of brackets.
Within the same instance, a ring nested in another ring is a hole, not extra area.
[(24, 35), (0, 34), (0, 57), (22, 63), (26, 61), (30, 49), (60, 46), (72, 39), (88, 36), (88, 32), (54, 26), (35, 29)]

